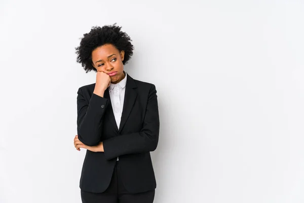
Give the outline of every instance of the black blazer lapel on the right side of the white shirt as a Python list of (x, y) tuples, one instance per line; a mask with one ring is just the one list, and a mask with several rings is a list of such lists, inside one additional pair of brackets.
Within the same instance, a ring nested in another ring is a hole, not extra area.
[(124, 106), (123, 106), (123, 112), (122, 112), (121, 122), (120, 122), (120, 126), (119, 126), (119, 132), (122, 131), (126, 121), (128, 120), (128, 117), (132, 111), (134, 102), (137, 97), (136, 88), (137, 88), (137, 86), (135, 84), (134, 79), (131, 78), (130, 75), (128, 74), (126, 90), (125, 90)]

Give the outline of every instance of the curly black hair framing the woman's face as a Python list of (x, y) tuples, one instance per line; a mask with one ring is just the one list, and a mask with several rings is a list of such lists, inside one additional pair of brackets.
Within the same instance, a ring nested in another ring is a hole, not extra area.
[(92, 51), (105, 44), (112, 44), (119, 52), (124, 50), (123, 64), (126, 64), (133, 55), (134, 47), (131, 39), (126, 32), (121, 31), (121, 26), (104, 25), (102, 27), (93, 26), (89, 33), (85, 33), (81, 38), (80, 46), (76, 47), (77, 62), (81, 63), (86, 73), (95, 71), (92, 65)]

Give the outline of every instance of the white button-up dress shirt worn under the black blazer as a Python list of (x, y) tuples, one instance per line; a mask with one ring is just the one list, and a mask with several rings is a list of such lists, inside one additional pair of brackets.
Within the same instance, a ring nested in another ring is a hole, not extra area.
[[(110, 83), (110, 86), (109, 86), (109, 94), (110, 94), (112, 109), (113, 109), (113, 113), (115, 116), (115, 120), (116, 120), (118, 129), (119, 129), (120, 121), (121, 121), (121, 117), (122, 117), (126, 84), (127, 84), (127, 73), (125, 71), (124, 71), (124, 73), (126, 74), (126, 76), (123, 80), (121, 80), (117, 84)], [(118, 157), (117, 157), (117, 160), (119, 160)]]

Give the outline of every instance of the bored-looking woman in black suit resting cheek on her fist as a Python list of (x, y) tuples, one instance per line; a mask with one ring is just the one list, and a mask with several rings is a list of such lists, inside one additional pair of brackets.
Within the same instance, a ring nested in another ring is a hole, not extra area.
[(121, 27), (92, 27), (76, 48), (96, 83), (80, 87), (74, 146), (87, 149), (80, 179), (82, 202), (154, 201), (156, 179), (150, 151), (159, 140), (154, 84), (124, 71), (133, 45)]

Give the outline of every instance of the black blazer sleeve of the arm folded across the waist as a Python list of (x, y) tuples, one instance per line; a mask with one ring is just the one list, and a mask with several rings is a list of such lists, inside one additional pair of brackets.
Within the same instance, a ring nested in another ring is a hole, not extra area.
[(159, 140), (160, 119), (155, 85), (151, 85), (145, 117), (140, 132), (121, 134), (103, 141), (107, 160), (124, 154), (154, 151)]

